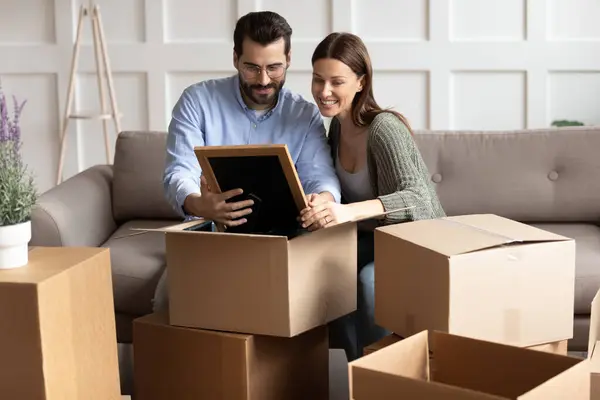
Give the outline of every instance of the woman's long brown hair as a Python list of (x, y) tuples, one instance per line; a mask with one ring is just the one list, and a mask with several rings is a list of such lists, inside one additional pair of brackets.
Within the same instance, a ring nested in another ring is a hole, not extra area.
[(363, 41), (346, 32), (330, 33), (319, 43), (312, 56), (312, 65), (317, 60), (333, 58), (346, 64), (359, 78), (363, 77), (363, 88), (352, 100), (352, 122), (356, 126), (367, 126), (382, 112), (397, 116), (409, 132), (413, 133), (406, 118), (397, 111), (382, 109), (373, 96), (373, 66)]

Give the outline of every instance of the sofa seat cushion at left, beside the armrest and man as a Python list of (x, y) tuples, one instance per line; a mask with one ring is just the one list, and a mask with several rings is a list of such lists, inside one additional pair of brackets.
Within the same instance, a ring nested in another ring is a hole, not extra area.
[[(133, 220), (102, 245), (110, 248), (115, 310), (131, 315), (152, 312), (152, 299), (165, 268), (165, 235), (130, 228), (158, 228), (174, 221)], [(133, 234), (133, 235), (132, 235)]]

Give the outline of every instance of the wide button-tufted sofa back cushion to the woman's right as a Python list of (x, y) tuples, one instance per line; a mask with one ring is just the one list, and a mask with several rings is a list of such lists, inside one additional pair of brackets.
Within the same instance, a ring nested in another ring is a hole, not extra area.
[(600, 127), (416, 132), (448, 215), (600, 220)]

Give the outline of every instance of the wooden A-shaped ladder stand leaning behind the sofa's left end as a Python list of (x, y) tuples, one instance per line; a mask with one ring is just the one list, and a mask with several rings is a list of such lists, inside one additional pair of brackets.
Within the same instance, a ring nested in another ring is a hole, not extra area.
[[(77, 63), (79, 60), (79, 49), (81, 45), (81, 29), (83, 27), (83, 20), (86, 17), (90, 17), (92, 23), (92, 37), (94, 41), (94, 56), (96, 60), (96, 77), (98, 81), (98, 92), (100, 95), (100, 113), (73, 113), (71, 108), (73, 107), (73, 92), (75, 91), (75, 74), (77, 69)], [(110, 97), (111, 110), (107, 110), (106, 106), (106, 93), (103, 85), (103, 76), (106, 79), (108, 86), (108, 94)], [(67, 94), (67, 104), (65, 106), (65, 113), (63, 117), (63, 126), (60, 132), (60, 157), (58, 161), (58, 173), (56, 178), (56, 184), (62, 182), (63, 179), (63, 167), (65, 159), (65, 151), (67, 144), (67, 129), (69, 127), (69, 121), (71, 119), (99, 119), (102, 121), (102, 128), (104, 130), (104, 144), (106, 148), (106, 162), (111, 164), (111, 151), (110, 151), (110, 140), (108, 136), (108, 120), (112, 119), (115, 125), (115, 134), (118, 135), (121, 132), (121, 114), (117, 107), (117, 98), (115, 96), (115, 90), (113, 85), (112, 72), (110, 69), (110, 62), (108, 59), (108, 53), (106, 51), (106, 42), (104, 39), (104, 28), (102, 26), (102, 17), (100, 16), (100, 7), (97, 4), (93, 4), (90, 0), (89, 5), (81, 5), (79, 8), (79, 20), (77, 23), (77, 34), (75, 43), (73, 44), (73, 57), (71, 60), (71, 74), (69, 78), (69, 87)]]

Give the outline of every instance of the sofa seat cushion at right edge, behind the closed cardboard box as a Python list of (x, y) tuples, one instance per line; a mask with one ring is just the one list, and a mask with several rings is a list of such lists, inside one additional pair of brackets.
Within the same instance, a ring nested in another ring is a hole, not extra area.
[(575, 314), (589, 314), (600, 288), (600, 227), (593, 224), (532, 224), (575, 239)]

